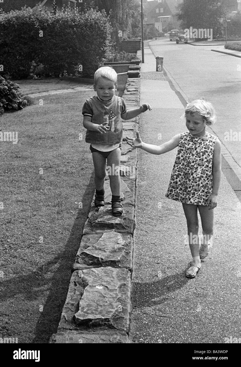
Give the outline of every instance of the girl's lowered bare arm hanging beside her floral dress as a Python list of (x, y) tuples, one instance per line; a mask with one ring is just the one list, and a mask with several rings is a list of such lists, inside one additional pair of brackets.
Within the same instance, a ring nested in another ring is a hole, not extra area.
[(209, 205), (209, 210), (214, 209), (217, 206), (220, 179), (221, 179), (221, 143), (217, 139), (214, 146), (214, 154), (212, 156), (212, 193), (207, 201), (207, 204)]

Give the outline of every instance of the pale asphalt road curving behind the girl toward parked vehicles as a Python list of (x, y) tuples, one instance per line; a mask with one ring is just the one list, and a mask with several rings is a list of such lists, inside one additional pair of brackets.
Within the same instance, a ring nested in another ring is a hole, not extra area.
[(213, 131), (241, 166), (241, 59), (213, 52), (211, 45), (192, 46), (161, 39), (150, 46), (156, 55), (164, 57), (164, 68), (188, 101), (204, 97), (212, 102), (218, 116)]

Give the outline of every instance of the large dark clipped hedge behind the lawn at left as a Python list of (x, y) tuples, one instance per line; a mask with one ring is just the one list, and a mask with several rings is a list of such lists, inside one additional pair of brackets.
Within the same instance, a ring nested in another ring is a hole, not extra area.
[(49, 13), (23, 8), (0, 13), (0, 75), (22, 79), (45, 75), (93, 76), (110, 54), (111, 25), (105, 12), (77, 7)]

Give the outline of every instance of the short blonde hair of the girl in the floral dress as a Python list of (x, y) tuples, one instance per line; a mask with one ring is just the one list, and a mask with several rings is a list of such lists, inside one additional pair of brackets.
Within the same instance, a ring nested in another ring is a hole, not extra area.
[(204, 98), (195, 99), (194, 101), (188, 103), (185, 108), (185, 113), (183, 117), (186, 116), (186, 113), (194, 113), (197, 112), (199, 115), (203, 116), (206, 120), (206, 125), (212, 125), (216, 121), (216, 112), (210, 102), (205, 101)]

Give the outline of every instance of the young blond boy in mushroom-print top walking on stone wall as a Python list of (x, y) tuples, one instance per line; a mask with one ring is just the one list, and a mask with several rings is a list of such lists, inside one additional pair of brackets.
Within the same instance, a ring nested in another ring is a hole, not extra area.
[[(94, 163), (94, 183), (96, 187), (94, 205), (104, 206), (104, 179), (106, 159), (110, 170), (110, 188), (112, 193), (112, 215), (122, 215), (121, 178), (119, 166), (121, 160), (122, 121), (130, 120), (141, 112), (151, 110), (145, 103), (139, 108), (126, 110), (123, 98), (115, 95), (117, 74), (109, 66), (103, 66), (94, 74), (94, 91), (97, 96), (84, 103), (82, 114), (83, 126), (87, 129), (85, 141), (90, 143)], [(116, 174), (117, 173), (117, 174)]]

